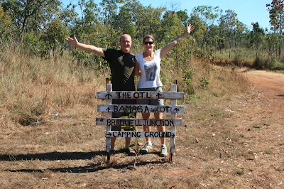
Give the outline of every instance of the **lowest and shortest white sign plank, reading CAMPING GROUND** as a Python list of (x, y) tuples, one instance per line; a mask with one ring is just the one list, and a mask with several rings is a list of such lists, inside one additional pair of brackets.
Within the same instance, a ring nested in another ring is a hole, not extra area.
[(106, 137), (150, 137), (150, 138), (175, 138), (175, 134), (170, 131), (107, 131)]

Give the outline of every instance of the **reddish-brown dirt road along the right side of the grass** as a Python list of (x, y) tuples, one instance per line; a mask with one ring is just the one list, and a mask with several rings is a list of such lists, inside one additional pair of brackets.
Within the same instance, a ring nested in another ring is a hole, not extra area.
[(256, 97), (244, 102), (246, 110), (236, 115), (236, 131), (254, 156), (238, 162), (251, 176), (246, 178), (249, 183), (244, 185), (243, 176), (238, 181), (253, 188), (283, 188), (284, 75), (247, 68), (239, 71), (248, 76)]

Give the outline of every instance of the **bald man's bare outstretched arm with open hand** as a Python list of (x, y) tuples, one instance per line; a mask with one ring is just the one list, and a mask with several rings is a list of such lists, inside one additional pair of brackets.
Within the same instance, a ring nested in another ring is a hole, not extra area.
[(72, 47), (80, 48), (82, 50), (85, 50), (91, 53), (96, 53), (97, 55), (101, 55), (102, 57), (104, 57), (104, 51), (102, 48), (98, 48), (94, 45), (86, 45), (84, 43), (79, 43), (75, 36), (74, 38), (67, 37), (65, 38), (65, 41), (68, 45), (71, 45)]

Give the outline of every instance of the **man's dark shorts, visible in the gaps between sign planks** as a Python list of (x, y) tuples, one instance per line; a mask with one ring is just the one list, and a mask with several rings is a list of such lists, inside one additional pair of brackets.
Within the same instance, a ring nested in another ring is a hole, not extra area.
[[(111, 104), (136, 104), (136, 99), (112, 99)], [(111, 112), (111, 118), (128, 117), (135, 118), (136, 113)], [(135, 131), (134, 126), (123, 126), (124, 131)], [(121, 125), (111, 126), (111, 131), (121, 131)]]

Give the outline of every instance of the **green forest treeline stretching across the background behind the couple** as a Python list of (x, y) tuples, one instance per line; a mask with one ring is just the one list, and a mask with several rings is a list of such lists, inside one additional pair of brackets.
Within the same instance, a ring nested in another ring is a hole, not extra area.
[[(74, 35), (82, 43), (118, 48), (119, 37), (128, 33), (133, 38), (132, 52), (137, 53), (143, 50), (141, 40), (147, 34), (155, 36), (159, 47), (180, 35), (185, 25), (191, 23), (195, 31), (168, 55), (176, 61), (185, 61), (188, 55), (193, 55), (212, 61), (225, 58), (246, 62), (244, 57), (250, 56), (251, 65), (257, 68), (284, 68), (283, 1), (263, 4), (270, 13), (269, 31), (258, 22), (251, 23), (250, 31), (234, 10), (218, 6), (197, 6), (188, 11), (176, 10), (174, 5), (171, 10), (143, 6), (138, 0), (102, 0), (99, 4), (94, 0), (78, 0), (65, 7), (58, 0), (0, 2), (0, 44), (21, 45), (42, 58), (56, 58), (70, 50), (64, 39)], [(78, 63), (94, 68), (104, 65), (104, 60), (92, 53), (83, 50), (71, 53)]]

